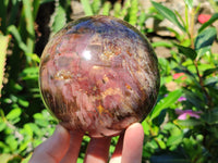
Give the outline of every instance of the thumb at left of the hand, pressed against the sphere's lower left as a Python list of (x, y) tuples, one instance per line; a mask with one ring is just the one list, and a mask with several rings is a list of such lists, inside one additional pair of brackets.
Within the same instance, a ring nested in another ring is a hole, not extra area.
[(53, 135), (35, 149), (29, 163), (60, 162), (66, 153), (69, 145), (69, 131), (61, 125), (58, 125)]

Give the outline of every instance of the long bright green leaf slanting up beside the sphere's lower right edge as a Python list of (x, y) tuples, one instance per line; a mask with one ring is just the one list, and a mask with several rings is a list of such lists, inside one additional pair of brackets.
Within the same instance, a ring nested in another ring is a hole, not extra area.
[(150, 120), (157, 117), (164, 109), (169, 108), (181, 96), (182, 96), (182, 90), (178, 89), (178, 90), (171, 91), (166, 98), (161, 99), (157, 103), (157, 105), (153, 109), (153, 111), (150, 113)]

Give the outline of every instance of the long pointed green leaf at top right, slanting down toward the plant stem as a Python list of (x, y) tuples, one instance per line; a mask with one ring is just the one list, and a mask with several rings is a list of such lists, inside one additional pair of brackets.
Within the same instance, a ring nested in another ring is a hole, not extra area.
[(152, 1), (152, 3), (157, 9), (157, 11), (164, 15), (164, 17), (166, 17), (167, 20), (172, 22), (174, 25), (177, 25), (182, 32), (185, 32), (185, 28), (181, 25), (181, 23), (177, 18), (177, 15), (170, 9), (155, 1)]

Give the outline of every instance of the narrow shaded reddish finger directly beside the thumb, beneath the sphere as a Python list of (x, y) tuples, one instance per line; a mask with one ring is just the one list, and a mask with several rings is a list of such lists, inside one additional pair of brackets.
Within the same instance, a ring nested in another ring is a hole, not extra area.
[(70, 148), (65, 156), (61, 160), (61, 163), (76, 163), (82, 140), (83, 134), (71, 131)]

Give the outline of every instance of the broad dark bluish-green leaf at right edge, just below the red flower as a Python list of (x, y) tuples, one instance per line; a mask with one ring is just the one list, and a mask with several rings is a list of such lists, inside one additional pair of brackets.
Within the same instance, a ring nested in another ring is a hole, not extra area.
[(215, 27), (209, 27), (204, 32), (199, 33), (195, 39), (195, 49), (199, 50), (202, 48), (211, 46), (217, 37), (217, 30)]

